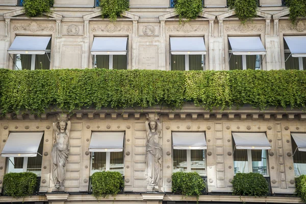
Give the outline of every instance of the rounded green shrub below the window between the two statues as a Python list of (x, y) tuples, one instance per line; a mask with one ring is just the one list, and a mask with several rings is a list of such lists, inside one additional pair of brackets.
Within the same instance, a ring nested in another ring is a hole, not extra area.
[(98, 199), (117, 195), (123, 189), (123, 177), (116, 171), (95, 172), (91, 176), (92, 194)]

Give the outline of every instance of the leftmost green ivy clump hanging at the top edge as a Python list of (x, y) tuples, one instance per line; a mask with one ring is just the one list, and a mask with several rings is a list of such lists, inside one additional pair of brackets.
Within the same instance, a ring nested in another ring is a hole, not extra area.
[(23, 8), (28, 17), (42, 16), (44, 12), (50, 12), (54, 0), (24, 0)]

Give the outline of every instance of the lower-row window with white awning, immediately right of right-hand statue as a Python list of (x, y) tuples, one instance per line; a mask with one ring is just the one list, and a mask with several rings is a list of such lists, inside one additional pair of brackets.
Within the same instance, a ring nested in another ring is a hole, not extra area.
[(173, 172), (197, 172), (201, 176), (206, 171), (206, 139), (204, 132), (172, 132)]

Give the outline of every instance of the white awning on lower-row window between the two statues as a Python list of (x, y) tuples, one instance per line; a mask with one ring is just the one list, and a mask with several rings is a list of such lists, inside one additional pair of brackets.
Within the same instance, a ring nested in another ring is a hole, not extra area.
[(89, 151), (123, 151), (124, 132), (92, 132)]

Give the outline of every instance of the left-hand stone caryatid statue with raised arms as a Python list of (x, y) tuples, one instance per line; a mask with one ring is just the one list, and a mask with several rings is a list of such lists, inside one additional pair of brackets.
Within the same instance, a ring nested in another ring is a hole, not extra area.
[(52, 178), (58, 190), (64, 190), (70, 129), (71, 122), (66, 117), (60, 117), (57, 123), (53, 123)]

